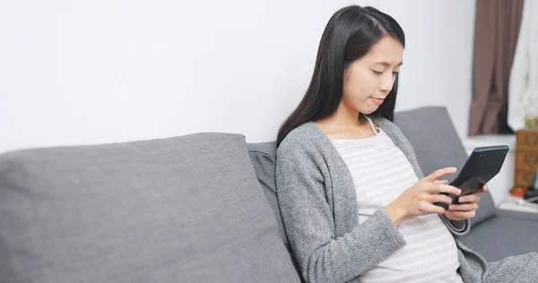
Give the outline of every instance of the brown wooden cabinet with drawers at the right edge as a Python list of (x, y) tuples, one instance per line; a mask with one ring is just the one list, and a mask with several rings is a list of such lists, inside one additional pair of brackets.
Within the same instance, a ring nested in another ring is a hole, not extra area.
[(536, 169), (538, 169), (538, 131), (519, 130), (516, 132), (514, 185), (525, 188), (534, 185)]

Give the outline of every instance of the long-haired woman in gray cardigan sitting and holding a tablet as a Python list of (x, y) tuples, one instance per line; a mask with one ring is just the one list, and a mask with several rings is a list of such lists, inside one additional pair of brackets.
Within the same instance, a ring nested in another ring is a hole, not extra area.
[(457, 240), (469, 231), (478, 196), (451, 204), (438, 194), (460, 193), (439, 180), (456, 168), (423, 177), (392, 123), (404, 43), (398, 23), (374, 8), (334, 13), (307, 93), (278, 133), (278, 200), (303, 278), (538, 281), (536, 253), (488, 264)]

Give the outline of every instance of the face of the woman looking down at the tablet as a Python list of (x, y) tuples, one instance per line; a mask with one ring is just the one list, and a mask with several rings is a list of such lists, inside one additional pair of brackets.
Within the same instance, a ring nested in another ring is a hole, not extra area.
[(353, 61), (344, 71), (345, 106), (366, 115), (376, 111), (392, 90), (403, 56), (402, 44), (386, 36), (367, 55)]

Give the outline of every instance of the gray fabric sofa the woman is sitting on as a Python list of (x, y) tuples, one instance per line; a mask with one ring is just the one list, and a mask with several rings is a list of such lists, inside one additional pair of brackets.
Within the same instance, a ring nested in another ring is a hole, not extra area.
[[(463, 165), (445, 108), (395, 123), (425, 174)], [(0, 283), (299, 282), (274, 159), (234, 133), (4, 153)], [(480, 205), (465, 244), (491, 261), (536, 251), (536, 215)]]

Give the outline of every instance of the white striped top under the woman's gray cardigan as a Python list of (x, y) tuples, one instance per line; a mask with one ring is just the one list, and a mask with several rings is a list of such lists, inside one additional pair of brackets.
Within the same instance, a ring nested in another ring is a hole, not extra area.
[[(330, 139), (350, 170), (359, 221), (369, 219), (418, 182), (404, 153), (381, 129), (360, 140)], [(360, 282), (463, 282), (454, 237), (436, 214), (407, 218), (398, 227), (401, 249), (360, 276)]]

